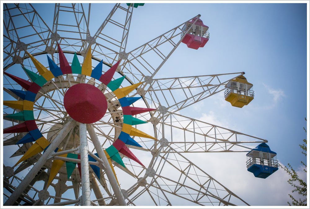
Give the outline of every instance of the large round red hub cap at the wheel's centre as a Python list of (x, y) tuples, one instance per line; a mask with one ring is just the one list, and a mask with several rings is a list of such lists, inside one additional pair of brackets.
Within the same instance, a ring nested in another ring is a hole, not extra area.
[(80, 123), (95, 123), (107, 112), (104, 94), (91, 84), (75, 84), (64, 95), (64, 108)]

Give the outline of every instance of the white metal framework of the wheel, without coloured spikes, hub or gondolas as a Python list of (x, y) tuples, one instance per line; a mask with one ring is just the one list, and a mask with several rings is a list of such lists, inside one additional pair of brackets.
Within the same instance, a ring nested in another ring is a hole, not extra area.
[[(137, 118), (149, 122), (145, 126), (145, 132), (158, 140), (135, 137), (142, 148), (130, 146), (146, 168), (121, 155), (127, 169), (113, 162), (120, 183), (118, 186), (102, 148), (110, 146), (121, 131), (123, 118), (120, 103), (113, 92), (98, 80), (75, 74), (58, 76), (40, 89), (34, 104), (38, 128), (54, 145), (43, 154), (36, 154), (13, 166), (13, 171), (8, 165), (3, 165), (6, 172), (3, 178), (4, 204), (162, 206), (180, 204), (176, 202), (178, 200), (182, 205), (248, 205), (205, 170), (197, 167), (184, 153), (249, 152), (251, 144), (267, 140), (177, 113), (216, 93), (224, 93), (224, 86), (243, 73), (153, 79), (181, 43), (182, 35), (191, 29), (183, 27), (189, 20), (184, 20), (175, 28), (131, 50), (126, 48), (126, 44), (135, 8), (117, 3), (93, 35), (89, 31), (91, 6), (93, 5), (89, 4), (88, 8), (84, 8), (78, 3), (57, 3), (53, 25), (49, 26), (39, 15), (42, 11), (36, 11), (31, 4), (4, 4), (3, 69), (22, 77), (26, 76), (20, 67), (22, 65), (37, 73), (25, 50), (45, 63), (45, 66), (48, 66), (46, 54), (59, 64), (57, 41), (68, 56), (68, 61), (72, 60), (74, 52), (83, 60), (89, 45), (93, 67), (103, 59), (106, 71), (121, 59), (114, 79), (126, 75), (126, 82), (122, 84), (124, 86), (145, 81), (129, 96), (142, 96), (143, 102), (137, 105), (139, 107), (142, 104), (157, 109), (139, 114)], [(63, 18), (64, 16), (67, 18)], [(162, 50), (163, 47), (165, 50)], [(24, 79), (29, 80), (28, 77)], [(63, 104), (66, 91), (72, 85), (84, 82), (98, 87), (108, 100), (107, 114), (98, 122), (87, 126), (73, 121)], [(20, 90), (21, 87), (4, 75), (4, 98), (20, 100), (8, 89)], [(3, 107), (4, 116), (17, 111)], [(4, 128), (20, 123), (18, 120), (4, 119)], [(15, 153), (11, 156), (13, 159), (21, 157), (32, 145), (15, 145), (24, 135), (25, 133), (4, 134), (4, 149), (14, 149)], [(76, 159), (76, 162), (84, 165), (83, 177), (80, 177), (76, 168), (68, 180), (64, 164), (51, 183), (48, 193), (46, 186), (52, 160), (64, 159), (50, 155), (56, 147), (64, 150), (58, 155), (81, 153), (81, 160)], [(85, 157), (87, 153), (97, 161), (83, 160), (82, 155)], [(98, 153), (99, 157), (93, 153)], [(2, 157), (6, 159), (4, 164), (9, 162), (7, 156)], [(100, 179), (94, 175), (91, 167), (85, 167), (87, 164), (101, 168)], [(89, 195), (89, 192), (94, 196)]]

